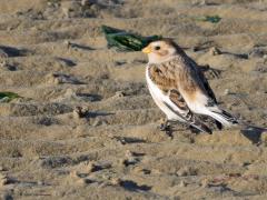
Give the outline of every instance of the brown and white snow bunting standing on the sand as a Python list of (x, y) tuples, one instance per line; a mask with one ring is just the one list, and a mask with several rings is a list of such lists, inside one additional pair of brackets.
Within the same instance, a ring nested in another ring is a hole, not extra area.
[(172, 121), (185, 122), (199, 131), (211, 130), (196, 114), (215, 119), (219, 129), (237, 120), (217, 106), (216, 97), (197, 63), (170, 39), (150, 42), (142, 52), (148, 54), (146, 79), (156, 104), (167, 116), (161, 126)]

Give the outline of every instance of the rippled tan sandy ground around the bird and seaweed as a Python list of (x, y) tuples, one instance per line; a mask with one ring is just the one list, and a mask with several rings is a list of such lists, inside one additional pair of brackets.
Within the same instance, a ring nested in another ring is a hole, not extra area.
[[(146, 56), (107, 49), (101, 24), (174, 38), (254, 127), (160, 132)], [(267, 199), (267, 1), (1, 0), (0, 63), (23, 97), (0, 103), (2, 199)]]

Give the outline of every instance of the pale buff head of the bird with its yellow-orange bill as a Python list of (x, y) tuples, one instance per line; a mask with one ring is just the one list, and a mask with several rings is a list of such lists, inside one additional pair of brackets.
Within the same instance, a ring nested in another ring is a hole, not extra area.
[(170, 39), (162, 39), (150, 42), (142, 49), (148, 54), (149, 63), (161, 63), (178, 53), (179, 47)]

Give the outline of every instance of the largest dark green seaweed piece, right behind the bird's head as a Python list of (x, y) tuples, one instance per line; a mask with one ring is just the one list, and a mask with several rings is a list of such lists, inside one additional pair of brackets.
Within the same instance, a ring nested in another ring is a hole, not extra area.
[(161, 36), (142, 37), (108, 26), (101, 27), (108, 42), (108, 48), (117, 48), (120, 51), (140, 51), (151, 41), (161, 39)]

